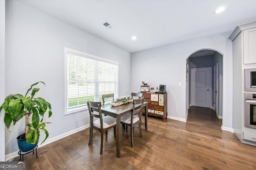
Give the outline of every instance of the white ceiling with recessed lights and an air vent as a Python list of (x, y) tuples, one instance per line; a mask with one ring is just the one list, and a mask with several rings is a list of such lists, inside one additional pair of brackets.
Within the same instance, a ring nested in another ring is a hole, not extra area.
[[(256, 0), (20, 1), (130, 53), (256, 21)], [(226, 10), (214, 14), (220, 6)], [(105, 21), (114, 28), (102, 25)]]

